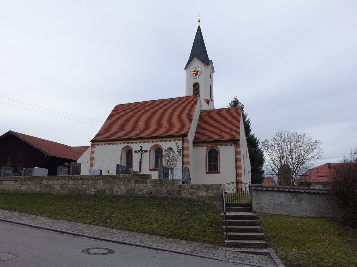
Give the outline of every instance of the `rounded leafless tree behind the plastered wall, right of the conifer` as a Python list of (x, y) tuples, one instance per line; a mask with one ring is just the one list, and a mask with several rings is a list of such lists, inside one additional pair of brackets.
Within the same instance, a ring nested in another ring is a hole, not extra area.
[[(261, 146), (266, 169), (276, 174), (278, 185), (295, 185), (298, 175), (311, 169), (313, 163), (324, 156), (321, 141), (313, 140), (307, 133), (280, 130), (270, 140), (264, 140)], [(284, 178), (283, 172), (288, 172)]]

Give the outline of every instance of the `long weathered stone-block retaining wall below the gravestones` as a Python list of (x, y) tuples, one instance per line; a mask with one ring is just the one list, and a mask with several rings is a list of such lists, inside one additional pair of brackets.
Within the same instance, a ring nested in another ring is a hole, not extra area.
[(182, 197), (221, 207), (221, 184), (181, 184), (151, 174), (0, 177), (0, 193)]

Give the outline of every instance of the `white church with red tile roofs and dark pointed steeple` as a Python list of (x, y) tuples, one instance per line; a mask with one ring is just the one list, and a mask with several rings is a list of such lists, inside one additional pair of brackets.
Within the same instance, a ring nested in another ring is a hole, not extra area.
[(176, 150), (178, 143), (183, 149), (176, 168), (182, 172), (187, 167), (192, 184), (250, 183), (242, 111), (239, 106), (214, 107), (215, 69), (200, 25), (184, 70), (185, 96), (114, 107), (91, 140), (90, 150), (77, 160), (82, 163), (81, 174), (92, 168), (115, 174), (116, 164), (121, 164), (158, 179), (162, 151), (170, 146)]

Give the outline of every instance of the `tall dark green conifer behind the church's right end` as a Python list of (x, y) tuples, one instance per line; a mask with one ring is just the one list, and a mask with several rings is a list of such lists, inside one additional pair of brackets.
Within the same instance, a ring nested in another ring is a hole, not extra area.
[(261, 178), (258, 177), (258, 174), (264, 173), (264, 155), (259, 145), (260, 139), (255, 137), (254, 133), (251, 133), (252, 130), (250, 118), (247, 118), (248, 116), (244, 112), (244, 105), (238, 100), (237, 96), (234, 96), (234, 98), (231, 100), (231, 103), (229, 103), (229, 106), (241, 106), (244, 130), (247, 138), (248, 153), (251, 165), (252, 184), (260, 184)]

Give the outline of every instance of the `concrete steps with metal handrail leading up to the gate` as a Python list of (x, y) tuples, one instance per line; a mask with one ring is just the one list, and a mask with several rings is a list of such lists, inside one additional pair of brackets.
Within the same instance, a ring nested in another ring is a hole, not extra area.
[[(223, 213), (222, 213), (223, 217)], [(264, 241), (264, 234), (258, 214), (250, 212), (227, 211), (227, 231), (223, 217), (223, 231), (225, 236), (226, 250), (269, 255), (267, 243)]]

